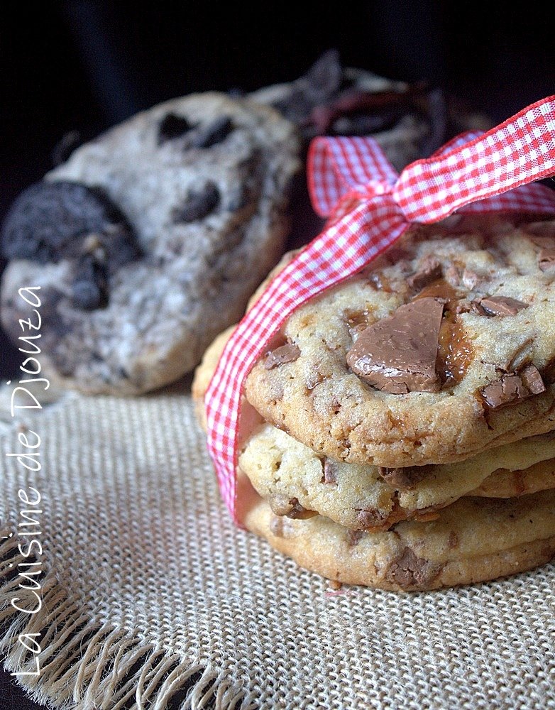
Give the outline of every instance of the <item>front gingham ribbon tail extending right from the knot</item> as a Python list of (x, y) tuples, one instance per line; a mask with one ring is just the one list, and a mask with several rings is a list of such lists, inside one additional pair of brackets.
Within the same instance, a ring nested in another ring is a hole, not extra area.
[(402, 170), (393, 190), (410, 222), (438, 222), (469, 202), (555, 172), (555, 96), (463, 145)]

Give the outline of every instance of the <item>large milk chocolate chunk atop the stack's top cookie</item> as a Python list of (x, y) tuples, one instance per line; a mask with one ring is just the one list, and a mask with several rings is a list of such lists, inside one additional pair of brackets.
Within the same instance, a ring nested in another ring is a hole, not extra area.
[(363, 330), (347, 353), (351, 370), (371, 386), (392, 394), (437, 392), (439, 328), (444, 306), (419, 298)]

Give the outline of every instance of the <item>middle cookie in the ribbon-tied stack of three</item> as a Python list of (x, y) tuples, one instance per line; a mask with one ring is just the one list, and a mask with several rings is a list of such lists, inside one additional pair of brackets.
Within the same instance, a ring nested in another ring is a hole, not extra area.
[(400, 520), (436, 518), (458, 498), (476, 495), (476, 488), (478, 495), (511, 497), (554, 487), (555, 437), (521, 439), (456, 464), (380, 469), (319, 457), (263, 424), (238, 463), (276, 515), (319, 513), (346, 528), (377, 532)]

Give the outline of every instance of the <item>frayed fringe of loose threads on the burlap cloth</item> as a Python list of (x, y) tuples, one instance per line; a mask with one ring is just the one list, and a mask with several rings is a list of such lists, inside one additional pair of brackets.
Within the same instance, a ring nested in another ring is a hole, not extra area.
[[(137, 629), (94, 621), (85, 600), (62, 589), (50, 569), (40, 577), (40, 611), (16, 610), (13, 599), (20, 600), (18, 606), (24, 603), (21, 584), (32, 588), (17, 572), (29, 559), (18, 550), (14, 529), (0, 528), (0, 540), (0, 652), (10, 673), (36, 671), (38, 657), (37, 676), (17, 677), (35, 702), (67, 710), (255, 708), (253, 697), (226, 674), (157, 648)], [(38, 656), (18, 643), (25, 634), (39, 640)]]

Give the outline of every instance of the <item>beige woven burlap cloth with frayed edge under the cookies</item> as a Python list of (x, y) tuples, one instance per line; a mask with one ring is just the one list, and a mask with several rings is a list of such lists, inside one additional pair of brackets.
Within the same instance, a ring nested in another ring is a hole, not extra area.
[[(426, 594), (333, 591), (233, 526), (189, 385), (136, 399), (67, 393), (0, 425), (3, 454), (26, 450), (25, 427), (40, 435), (40, 470), (2, 457), (0, 496), (1, 651), (10, 671), (38, 661), (38, 676), (19, 676), (35, 699), (79, 710), (555, 708), (554, 565)], [(23, 526), (21, 495), (33, 491), (41, 512)], [(23, 557), (17, 545), (29, 552), (22, 541), (39, 528), (42, 554)], [(40, 591), (21, 574), (30, 560)]]

